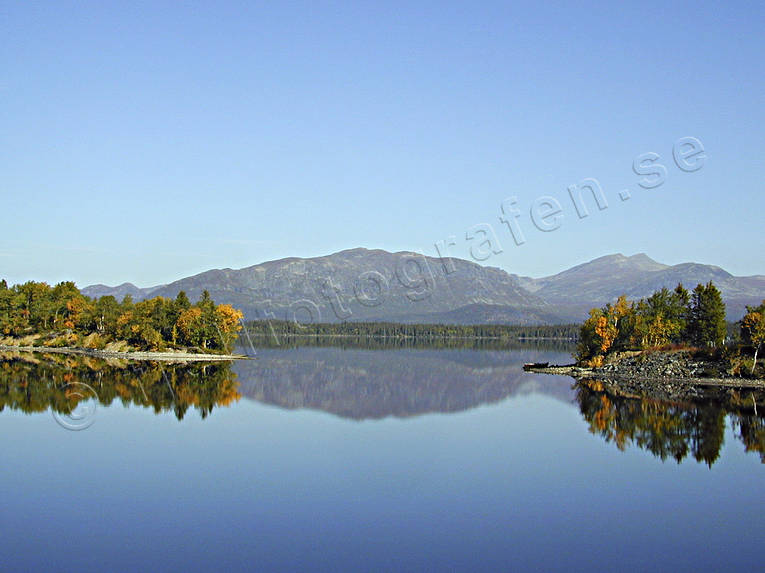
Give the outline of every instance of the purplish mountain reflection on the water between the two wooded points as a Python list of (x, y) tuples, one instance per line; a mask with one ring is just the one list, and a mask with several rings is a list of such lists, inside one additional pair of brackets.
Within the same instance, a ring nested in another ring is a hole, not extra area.
[(539, 349), (362, 350), (301, 346), (261, 349), (234, 366), (248, 398), (354, 420), (460, 412), (510, 396), (541, 392), (573, 402), (570, 378), (523, 372), (524, 362), (565, 361)]

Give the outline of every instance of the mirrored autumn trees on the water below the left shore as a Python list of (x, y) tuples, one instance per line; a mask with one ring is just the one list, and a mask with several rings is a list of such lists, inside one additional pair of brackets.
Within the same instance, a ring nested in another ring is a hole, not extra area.
[(0, 412), (50, 409), (69, 415), (91, 398), (82, 388), (92, 388), (104, 406), (121, 402), (151, 408), (156, 414), (172, 412), (179, 420), (189, 408), (205, 418), (215, 407), (240, 398), (236, 375), (227, 363), (180, 365), (23, 354), (0, 358)]

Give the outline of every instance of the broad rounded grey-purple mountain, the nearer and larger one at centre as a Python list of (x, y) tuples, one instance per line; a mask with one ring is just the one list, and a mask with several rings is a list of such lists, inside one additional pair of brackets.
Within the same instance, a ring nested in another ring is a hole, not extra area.
[(441, 260), (416, 253), (351, 249), (211, 270), (149, 292), (174, 297), (183, 290), (195, 300), (207, 289), (214, 300), (242, 309), (247, 318), (271, 314), (288, 319), (297, 315), (301, 321), (310, 316), (328, 322), (383, 320), (491, 305), (511, 312), (513, 322), (557, 320), (547, 303), (505, 271), (459, 259), (453, 265), (447, 272)]

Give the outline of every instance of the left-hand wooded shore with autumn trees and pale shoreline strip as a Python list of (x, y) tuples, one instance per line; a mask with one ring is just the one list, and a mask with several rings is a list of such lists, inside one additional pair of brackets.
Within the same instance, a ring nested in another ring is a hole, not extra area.
[(215, 304), (207, 291), (195, 303), (183, 291), (175, 299), (133, 302), (129, 295), (91, 299), (73, 282), (0, 281), (0, 346), (7, 349), (227, 355), (241, 320), (241, 312)]

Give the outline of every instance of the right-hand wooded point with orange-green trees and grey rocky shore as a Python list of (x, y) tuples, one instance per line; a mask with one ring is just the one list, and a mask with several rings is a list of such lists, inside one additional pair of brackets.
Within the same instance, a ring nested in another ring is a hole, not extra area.
[(751, 385), (762, 386), (765, 369), (758, 356), (765, 344), (765, 301), (747, 307), (737, 326), (737, 336), (729, 336), (725, 304), (712, 282), (691, 292), (681, 284), (663, 288), (636, 302), (621, 296), (590, 311), (580, 329), (575, 365), (528, 369), (629, 379), (636, 389), (667, 379), (727, 386), (748, 386), (743, 379), (750, 379)]

